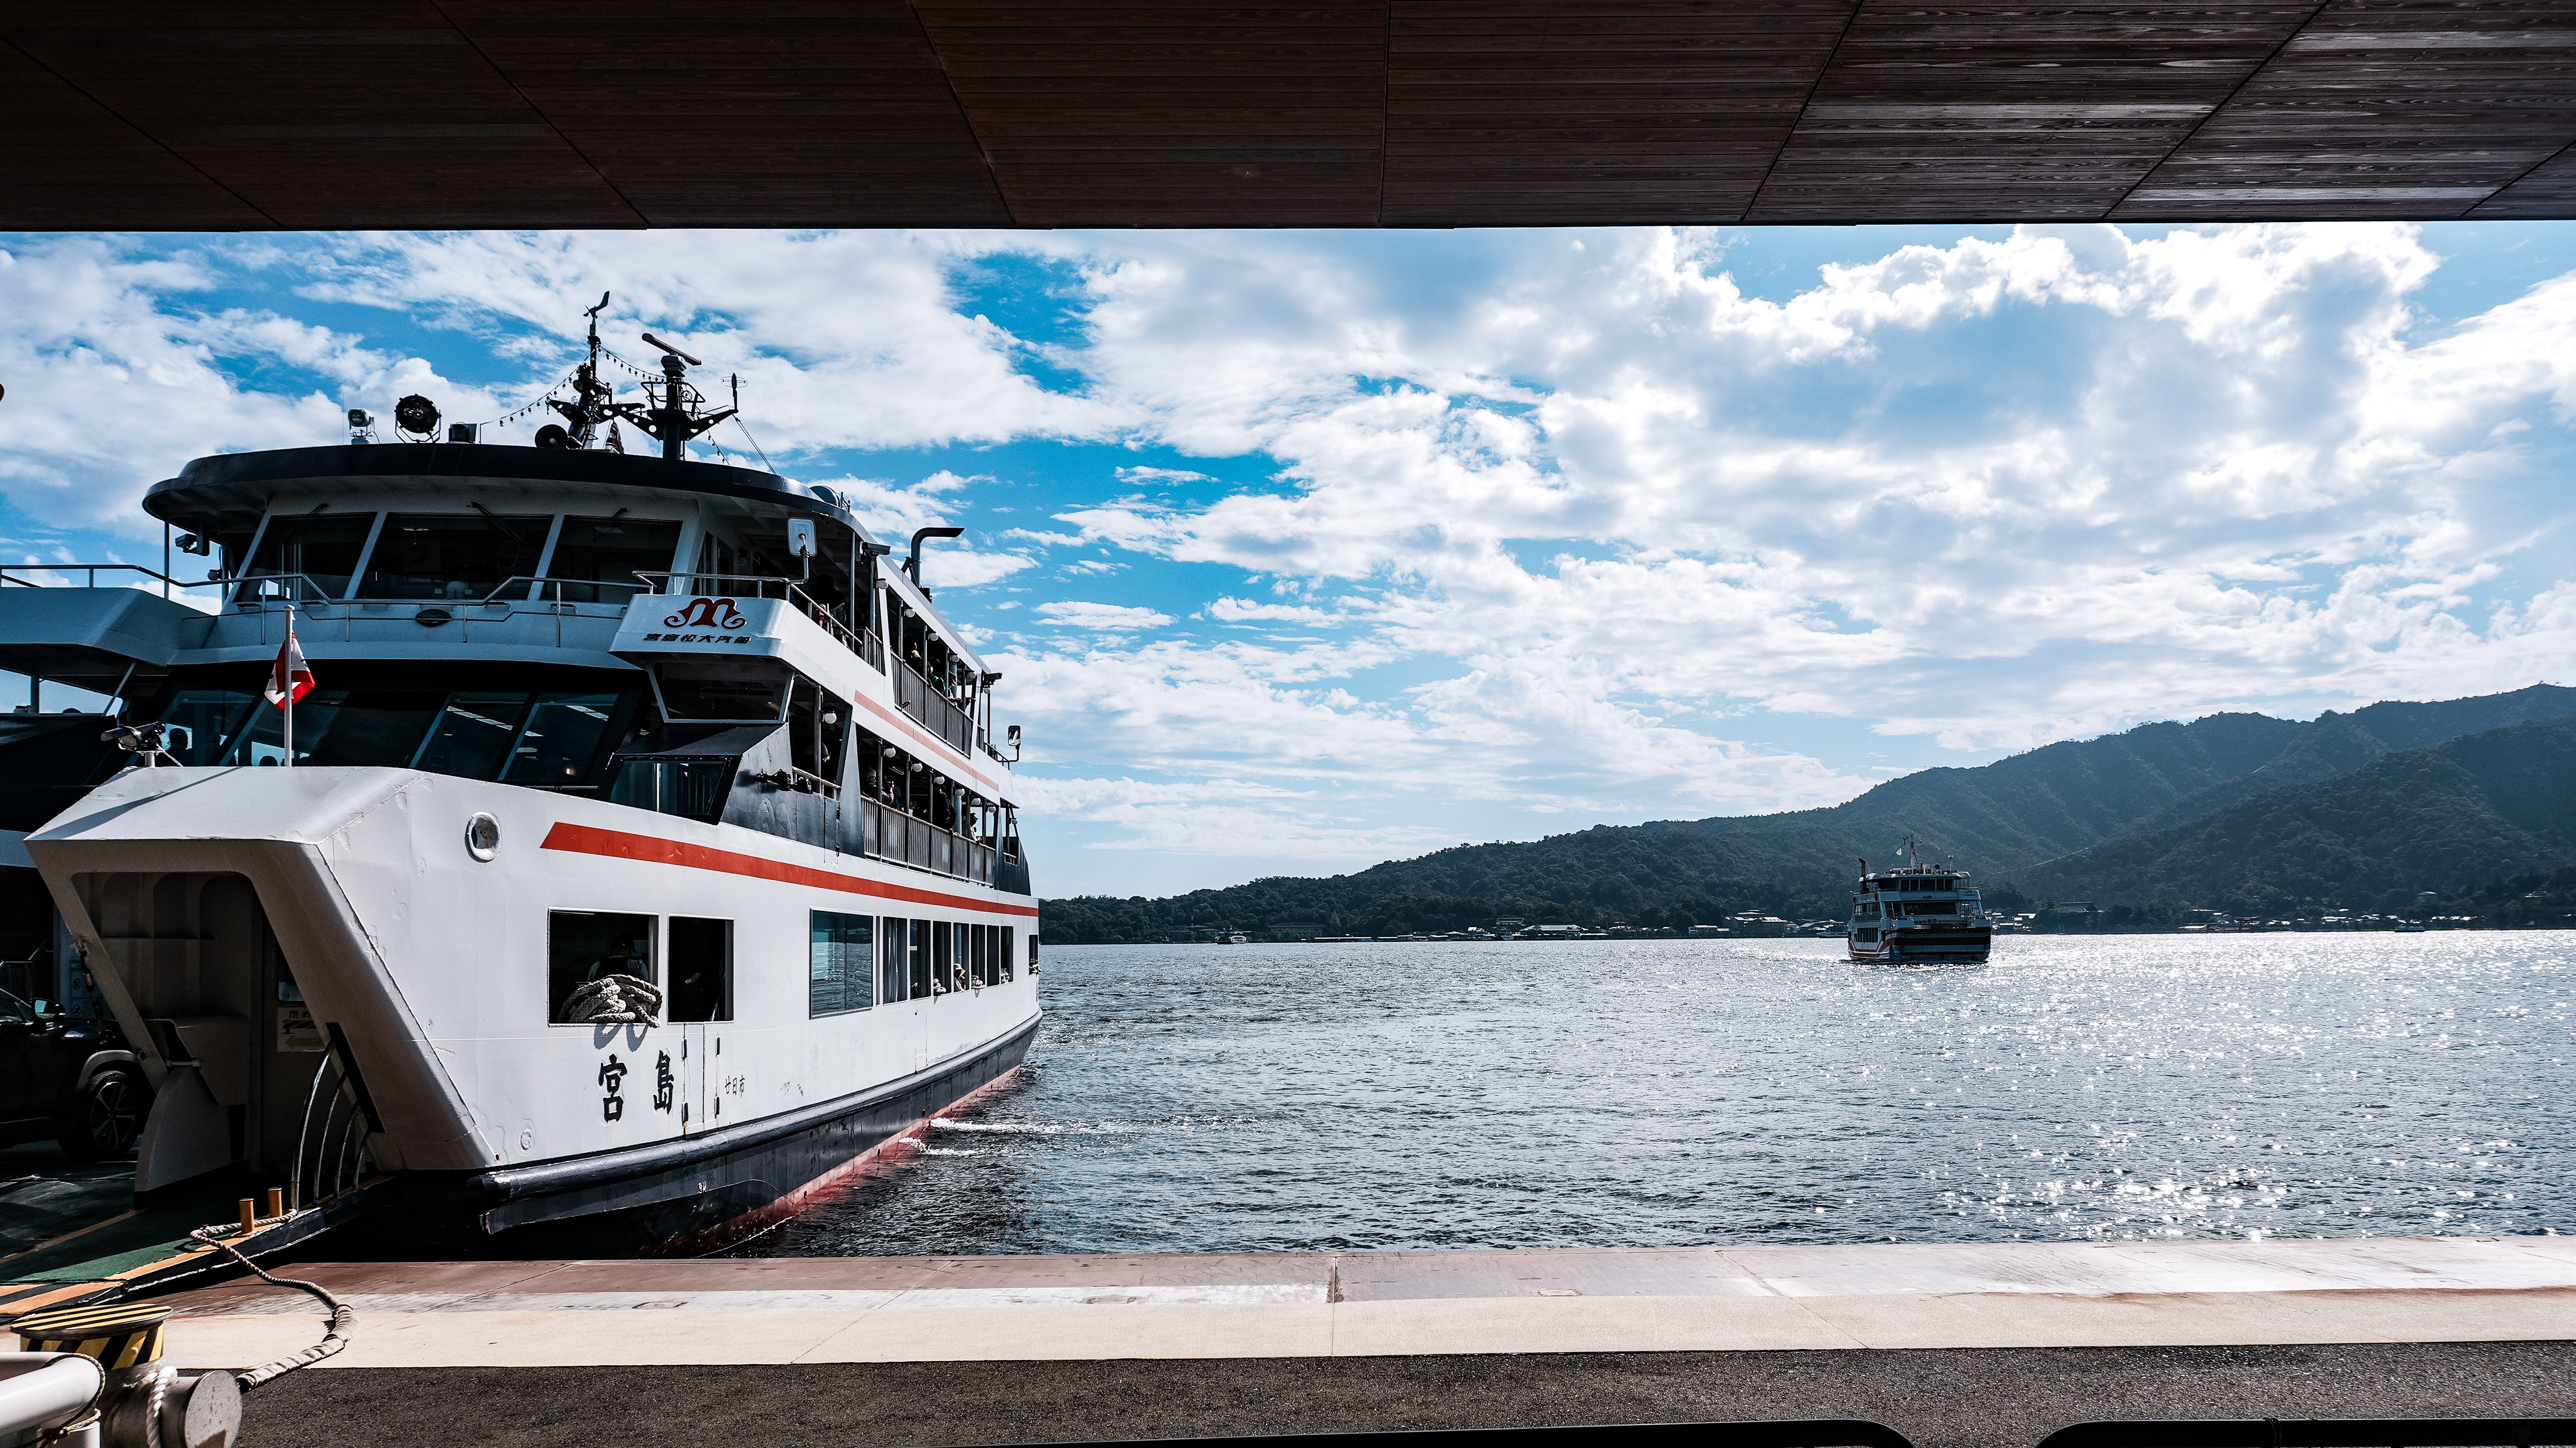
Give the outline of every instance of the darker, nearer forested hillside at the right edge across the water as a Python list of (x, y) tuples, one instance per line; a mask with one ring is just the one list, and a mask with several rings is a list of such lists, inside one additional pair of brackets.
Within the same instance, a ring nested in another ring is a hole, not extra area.
[(2290, 783), (2172, 830), (2027, 871), (2061, 899), (2187, 899), (2272, 912), (2398, 910), (2421, 889), (2576, 858), (2576, 719), (2514, 724)]

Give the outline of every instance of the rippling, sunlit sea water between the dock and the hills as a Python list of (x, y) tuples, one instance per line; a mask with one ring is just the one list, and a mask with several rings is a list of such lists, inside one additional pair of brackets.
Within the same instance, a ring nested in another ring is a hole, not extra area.
[(752, 1255), (2576, 1232), (2576, 935), (1051, 946)]

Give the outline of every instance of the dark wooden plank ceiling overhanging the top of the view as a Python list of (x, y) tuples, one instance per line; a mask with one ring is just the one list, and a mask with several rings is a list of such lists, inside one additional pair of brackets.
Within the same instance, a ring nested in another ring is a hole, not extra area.
[(2576, 0), (0, 0), (5, 229), (2576, 216)]

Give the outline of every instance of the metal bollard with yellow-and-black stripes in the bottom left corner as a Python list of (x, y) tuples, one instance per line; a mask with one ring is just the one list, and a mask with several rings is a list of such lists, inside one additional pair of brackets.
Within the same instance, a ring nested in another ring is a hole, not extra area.
[(95, 1440), (106, 1448), (232, 1448), (242, 1386), (232, 1373), (180, 1373), (162, 1363), (167, 1306), (106, 1304), (31, 1311), (10, 1332), (31, 1353), (75, 1353), (106, 1376)]

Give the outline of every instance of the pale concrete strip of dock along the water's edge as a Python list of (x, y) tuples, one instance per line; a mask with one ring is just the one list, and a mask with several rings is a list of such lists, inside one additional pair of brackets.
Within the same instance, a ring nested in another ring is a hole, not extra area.
[[(2561, 1342), (2576, 1237), (299, 1265), (317, 1371)], [(309, 1345), (258, 1281), (173, 1360)]]

